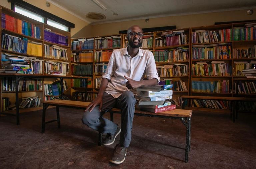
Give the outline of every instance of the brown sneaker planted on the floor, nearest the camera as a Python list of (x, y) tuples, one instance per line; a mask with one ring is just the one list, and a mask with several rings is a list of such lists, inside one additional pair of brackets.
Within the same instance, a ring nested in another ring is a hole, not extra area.
[(120, 144), (117, 144), (115, 147), (115, 151), (109, 160), (109, 162), (114, 164), (121, 164), (124, 162), (125, 156), (126, 156), (127, 148), (121, 147)]

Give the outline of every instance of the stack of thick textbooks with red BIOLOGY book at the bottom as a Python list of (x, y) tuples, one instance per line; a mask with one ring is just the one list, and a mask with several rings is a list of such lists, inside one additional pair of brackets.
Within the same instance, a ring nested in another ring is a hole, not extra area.
[(176, 105), (171, 104), (171, 85), (141, 86), (137, 88), (135, 98), (139, 100), (138, 106), (142, 110), (159, 113), (176, 109)]

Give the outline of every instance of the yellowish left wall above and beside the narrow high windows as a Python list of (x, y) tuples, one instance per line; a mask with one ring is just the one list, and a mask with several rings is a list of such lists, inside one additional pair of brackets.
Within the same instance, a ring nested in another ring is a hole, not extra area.
[[(24, 0), (27, 3), (30, 3), (31, 5), (34, 5), (38, 8), (41, 8), (42, 10), (45, 10), (53, 15), (56, 15), (62, 19), (65, 19), (69, 22), (72, 22), (75, 24), (75, 28), (71, 29), (71, 37), (75, 35), (77, 32), (79, 32), (81, 29), (83, 29), (83, 36), (90, 36), (91, 35), (91, 25), (87, 22), (85, 22), (82, 19), (77, 18), (76, 16), (68, 13), (67, 11), (64, 11), (63, 9), (51, 4), (50, 7), (46, 6), (45, 0)], [(11, 9), (11, 3), (8, 3), (7, 0), (0, 0), (0, 5)]]

